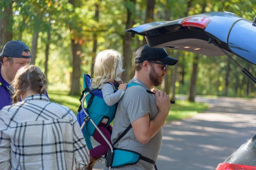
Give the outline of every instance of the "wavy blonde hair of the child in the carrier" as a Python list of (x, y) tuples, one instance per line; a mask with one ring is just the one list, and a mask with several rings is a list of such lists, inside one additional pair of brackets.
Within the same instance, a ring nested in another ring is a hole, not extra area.
[(95, 78), (91, 80), (91, 88), (98, 88), (106, 82), (120, 81), (122, 68), (122, 56), (119, 52), (109, 49), (97, 54), (93, 72)]

